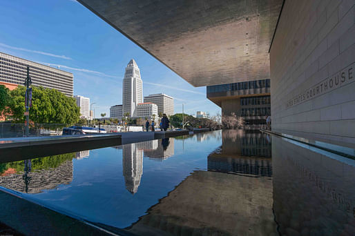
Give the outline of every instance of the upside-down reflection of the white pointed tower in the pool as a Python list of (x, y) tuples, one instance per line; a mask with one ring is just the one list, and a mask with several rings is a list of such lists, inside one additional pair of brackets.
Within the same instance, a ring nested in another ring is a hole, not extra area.
[(137, 144), (122, 146), (122, 166), (126, 189), (132, 194), (137, 193), (143, 174), (143, 151), (137, 148)]

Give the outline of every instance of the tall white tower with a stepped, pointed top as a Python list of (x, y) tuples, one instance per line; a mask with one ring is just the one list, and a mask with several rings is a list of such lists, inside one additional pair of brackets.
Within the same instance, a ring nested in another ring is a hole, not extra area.
[(137, 104), (143, 102), (142, 79), (140, 78), (140, 68), (134, 59), (128, 62), (124, 72), (122, 86), (122, 113), (129, 113), (129, 117), (137, 116)]

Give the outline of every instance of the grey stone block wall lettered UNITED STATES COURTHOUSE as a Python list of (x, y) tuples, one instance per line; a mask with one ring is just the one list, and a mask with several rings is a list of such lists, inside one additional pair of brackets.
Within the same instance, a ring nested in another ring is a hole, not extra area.
[(286, 0), (270, 50), (274, 131), (355, 143), (355, 0)]

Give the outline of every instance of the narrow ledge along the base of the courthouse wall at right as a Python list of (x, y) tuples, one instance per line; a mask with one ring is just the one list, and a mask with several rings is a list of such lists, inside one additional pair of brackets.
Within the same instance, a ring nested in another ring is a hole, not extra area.
[(287, 139), (298, 141), (300, 143), (307, 144), (309, 146), (314, 146), (315, 148), (326, 150), (329, 153), (335, 153), (336, 155), (341, 155), (343, 157), (355, 159), (355, 149), (354, 148), (349, 148), (347, 146), (340, 146), (340, 145), (336, 145), (336, 144), (329, 144), (325, 141), (318, 141), (315, 139), (307, 139), (305, 137), (287, 135), (287, 134), (284, 134), (281, 132), (273, 132), (271, 130), (260, 129), (260, 131), (271, 134), (271, 135), (277, 135), (280, 137), (284, 137)]

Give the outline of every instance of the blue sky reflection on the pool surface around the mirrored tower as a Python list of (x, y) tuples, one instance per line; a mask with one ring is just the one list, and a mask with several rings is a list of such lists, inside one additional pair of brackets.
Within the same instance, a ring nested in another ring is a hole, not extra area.
[(175, 139), (172, 157), (164, 161), (144, 157), (140, 185), (134, 195), (129, 193), (125, 186), (123, 150), (90, 150), (88, 158), (73, 159), (73, 181), (70, 184), (28, 197), (79, 215), (91, 222), (120, 228), (130, 226), (193, 170), (207, 170), (207, 156), (220, 144), (221, 140), (213, 137), (198, 144), (196, 137)]

